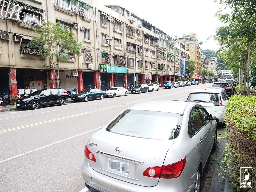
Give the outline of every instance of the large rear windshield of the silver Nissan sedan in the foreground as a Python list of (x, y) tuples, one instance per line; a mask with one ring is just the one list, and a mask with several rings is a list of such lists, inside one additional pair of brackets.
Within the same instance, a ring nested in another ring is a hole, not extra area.
[(126, 110), (106, 130), (148, 139), (175, 139), (180, 132), (182, 117), (177, 113)]

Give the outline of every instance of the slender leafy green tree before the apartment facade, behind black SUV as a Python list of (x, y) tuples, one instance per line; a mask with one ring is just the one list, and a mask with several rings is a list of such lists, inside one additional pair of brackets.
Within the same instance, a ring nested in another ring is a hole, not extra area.
[[(81, 43), (74, 39), (74, 34), (65, 26), (63, 29), (59, 22), (43, 23), (42, 28), (34, 30), (35, 37), (31, 40), (30, 46), (43, 46), (41, 58), (49, 59), (47, 67), (54, 70), (57, 82), (59, 82), (60, 64), (67, 61), (71, 56), (81, 56)], [(57, 83), (59, 88), (59, 83)]]

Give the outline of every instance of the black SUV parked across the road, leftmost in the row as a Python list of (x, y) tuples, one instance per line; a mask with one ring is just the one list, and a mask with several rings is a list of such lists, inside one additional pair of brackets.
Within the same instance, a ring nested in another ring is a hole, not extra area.
[(68, 93), (65, 89), (41, 89), (26, 97), (18, 98), (17, 108), (38, 109), (45, 105), (65, 105), (68, 101)]

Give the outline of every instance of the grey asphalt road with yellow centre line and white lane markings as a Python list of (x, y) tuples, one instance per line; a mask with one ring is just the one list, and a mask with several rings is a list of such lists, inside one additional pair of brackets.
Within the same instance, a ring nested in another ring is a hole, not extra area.
[(90, 136), (127, 107), (146, 100), (183, 100), (199, 84), (0, 113), (0, 191), (79, 192)]

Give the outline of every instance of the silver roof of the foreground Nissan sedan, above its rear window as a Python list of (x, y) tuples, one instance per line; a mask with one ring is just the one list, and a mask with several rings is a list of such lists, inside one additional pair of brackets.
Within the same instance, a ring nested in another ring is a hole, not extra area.
[(169, 113), (183, 114), (188, 105), (193, 105), (194, 102), (189, 101), (174, 101), (174, 100), (151, 100), (144, 101), (132, 105), (128, 109), (132, 110), (146, 110), (146, 111), (160, 111)]

